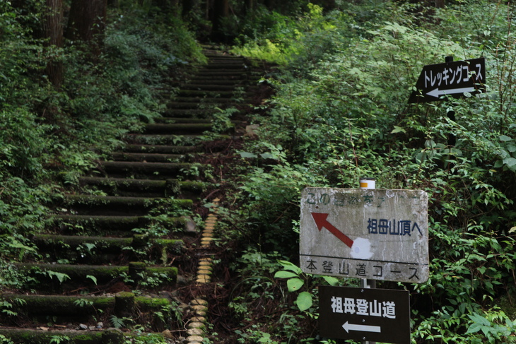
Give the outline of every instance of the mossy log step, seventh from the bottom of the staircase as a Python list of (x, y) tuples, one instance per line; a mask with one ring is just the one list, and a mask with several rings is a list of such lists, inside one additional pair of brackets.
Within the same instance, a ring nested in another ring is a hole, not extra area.
[(95, 189), (112, 196), (168, 197), (197, 192), (206, 189), (203, 182), (178, 181), (177, 179), (126, 179), (104, 177), (82, 177), (81, 186), (93, 186)]

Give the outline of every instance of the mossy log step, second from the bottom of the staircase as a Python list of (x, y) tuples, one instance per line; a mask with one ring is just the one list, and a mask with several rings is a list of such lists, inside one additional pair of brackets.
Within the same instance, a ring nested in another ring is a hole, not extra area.
[(136, 309), (161, 312), (163, 307), (171, 307), (167, 298), (136, 297), (132, 292), (119, 292), (115, 297), (4, 294), (0, 299), (13, 304), (13, 312), (35, 316), (92, 316), (110, 309), (112, 314), (122, 317), (134, 315)]

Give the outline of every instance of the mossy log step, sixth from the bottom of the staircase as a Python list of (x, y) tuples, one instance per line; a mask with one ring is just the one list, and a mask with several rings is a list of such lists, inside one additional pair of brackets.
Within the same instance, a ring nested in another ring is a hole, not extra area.
[(191, 199), (66, 195), (63, 207), (80, 211), (82, 215), (146, 215), (149, 210), (157, 208), (192, 208)]

